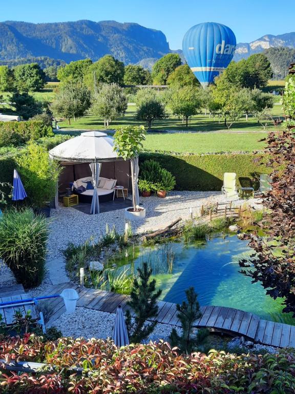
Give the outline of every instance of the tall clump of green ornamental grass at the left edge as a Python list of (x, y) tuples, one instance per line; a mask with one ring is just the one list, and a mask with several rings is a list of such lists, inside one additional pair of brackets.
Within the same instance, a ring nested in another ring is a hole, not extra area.
[(0, 221), (0, 258), (24, 287), (38, 286), (45, 273), (48, 224), (29, 208), (9, 210)]

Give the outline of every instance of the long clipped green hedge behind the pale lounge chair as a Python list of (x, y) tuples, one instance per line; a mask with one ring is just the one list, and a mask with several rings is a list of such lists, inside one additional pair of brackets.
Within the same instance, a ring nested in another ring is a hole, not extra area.
[[(259, 188), (259, 175), (270, 173), (264, 164), (254, 163), (262, 153), (218, 153), (218, 154), (164, 154), (140, 153), (139, 161), (158, 161), (176, 178), (176, 190), (221, 190), (224, 172), (236, 172), (237, 186)], [(263, 156), (263, 162), (267, 156)]]

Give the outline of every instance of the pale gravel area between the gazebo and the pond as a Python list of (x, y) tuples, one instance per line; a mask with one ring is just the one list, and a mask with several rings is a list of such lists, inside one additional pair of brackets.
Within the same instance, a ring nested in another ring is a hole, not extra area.
[[(140, 198), (146, 209), (146, 218), (131, 223), (134, 233), (157, 230), (165, 227), (181, 216), (189, 218), (189, 208), (193, 215), (200, 214), (201, 205), (223, 201), (218, 191), (173, 191), (164, 199), (156, 196)], [(256, 200), (247, 200), (251, 205), (257, 205)], [(236, 201), (233, 205), (244, 204), (244, 200)], [(58, 207), (52, 210), (51, 234), (48, 242), (48, 260), (60, 258), (61, 250), (66, 249), (69, 242), (81, 244), (91, 237), (97, 240), (106, 231), (106, 226), (115, 226), (119, 233), (124, 232), (124, 210), (103, 212), (99, 215), (88, 215), (72, 207)]]

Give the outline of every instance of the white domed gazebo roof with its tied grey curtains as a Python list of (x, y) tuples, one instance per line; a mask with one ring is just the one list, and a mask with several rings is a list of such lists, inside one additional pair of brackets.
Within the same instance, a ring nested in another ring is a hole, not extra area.
[[(49, 155), (51, 159), (64, 163), (90, 164), (94, 186), (91, 213), (99, 213), (97, 187), (101, 163), (123, 161), (122, 157), (118, 157), (114, 150), (114, 139), (100, 131), (87, 131), (57, 145), (49, 151)], [(135, 178), (135, 195), (138, 195), (136, 175)]]

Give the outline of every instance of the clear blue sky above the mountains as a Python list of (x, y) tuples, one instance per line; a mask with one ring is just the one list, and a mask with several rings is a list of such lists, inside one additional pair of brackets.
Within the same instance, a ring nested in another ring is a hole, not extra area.
[(295, 7), (277, 0), (0, 0), (0, 4), (2, 22), (135, 22), (161, 30), (171, 49), (181, 49), (185, 32), (202, 22), (227, 25), (238, 43), (295, 31)]

